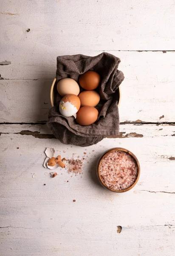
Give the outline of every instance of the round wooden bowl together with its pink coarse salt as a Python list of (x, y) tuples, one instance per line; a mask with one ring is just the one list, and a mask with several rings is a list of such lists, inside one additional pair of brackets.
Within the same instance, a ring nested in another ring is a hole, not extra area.
[(137, 157), (125, 148), (111, 148), (99, 160), (97, 176), (105, 189), (126, 192), (132, 189), (140, 176)]

